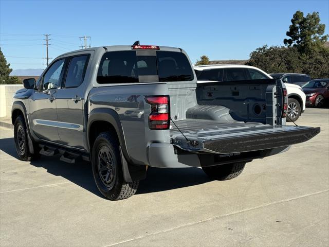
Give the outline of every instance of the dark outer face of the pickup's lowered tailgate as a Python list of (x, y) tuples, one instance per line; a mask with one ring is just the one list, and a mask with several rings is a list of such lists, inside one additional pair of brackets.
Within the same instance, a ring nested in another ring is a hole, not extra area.
[(302, 129), (272, 132), (258, 135), (248, 135), (227, 139), (208, 140), (204, 148), (215, 153), (250, 152), (271, 148), (290, 146), (306, 142), (320, 133), (320, 127), (305, 127)]

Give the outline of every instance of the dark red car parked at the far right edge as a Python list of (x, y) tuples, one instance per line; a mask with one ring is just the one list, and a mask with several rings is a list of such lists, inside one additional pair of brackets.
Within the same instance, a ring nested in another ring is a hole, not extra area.
[(323, 107), (329, 99), (329, 79), (316, 79), (302, 86), (306, 94), (306, 105)]

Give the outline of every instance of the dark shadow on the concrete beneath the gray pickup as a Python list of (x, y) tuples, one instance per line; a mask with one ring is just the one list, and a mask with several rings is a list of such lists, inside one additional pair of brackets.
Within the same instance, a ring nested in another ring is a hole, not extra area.
[[(17, 158), (14, 145), (14, 138), (0, 139), (0, 150)], [(39, 160), (27, 162), (28, 164), (44, 168), (48, 173), (61, 176), (103, 198), (95, 185), (92, 167), (89, 162), (81, 161), (76, 164), (67, 164), (60, 161), (59, 156), (56, 155), (51, 157), (41, 156)], [(189, 187), (209, 181), (203, 170), (199, 168), (149, 168), (147, 178), (140, 181), (136, 194)]]

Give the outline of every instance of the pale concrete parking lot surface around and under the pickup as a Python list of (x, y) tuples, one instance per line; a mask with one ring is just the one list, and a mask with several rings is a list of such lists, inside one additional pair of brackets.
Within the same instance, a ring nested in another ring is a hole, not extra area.
[(321, 133), (248, 163), (230, 181), (150, 168), (130, 199), (107, 201), (88, 163), (17, 160), (0, 130), (0, 246), (328, 246), (329, 110), (297, 123)]

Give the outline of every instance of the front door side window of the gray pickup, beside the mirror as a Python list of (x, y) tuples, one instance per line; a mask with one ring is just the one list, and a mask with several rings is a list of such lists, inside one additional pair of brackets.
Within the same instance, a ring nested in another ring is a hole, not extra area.
[(43, 77), (42, 91), (57, 89), (63, 77), (65, 59), (54, 62)]

